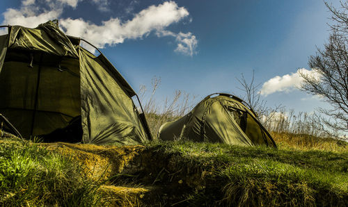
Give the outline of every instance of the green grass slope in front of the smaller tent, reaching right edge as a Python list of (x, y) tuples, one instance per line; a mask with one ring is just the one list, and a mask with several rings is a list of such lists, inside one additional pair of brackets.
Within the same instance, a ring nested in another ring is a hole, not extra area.
[(166, 169), (168, 174), (173, 174), (173, 169), (181, 170), (183, 176), (199, 174), (204, 183), (200, 185), (205, 186), (191, 189), (187, 194), (188, 204), (345, 206), (348, 203), (347, 151), (300, 151), (188, 141), (151, 142), (148, 147), (163, 157), (172, 155), (171, 167), (167, 165)]

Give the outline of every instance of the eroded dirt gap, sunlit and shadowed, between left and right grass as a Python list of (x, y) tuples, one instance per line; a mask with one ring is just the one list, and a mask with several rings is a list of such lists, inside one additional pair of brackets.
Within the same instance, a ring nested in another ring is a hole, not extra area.
[(206, 178), (211, 174), (209, 170), (187, 167), (187, 163), (180, 162), (180, 155), (141, 145), (56, 142), (40, 146), (71, 158), (81, 165), (82, 176), (104, 183), (100, 190), (108, 206), (181, 206), (193, 193), (205, 192), (209, 185), (216, 187)]

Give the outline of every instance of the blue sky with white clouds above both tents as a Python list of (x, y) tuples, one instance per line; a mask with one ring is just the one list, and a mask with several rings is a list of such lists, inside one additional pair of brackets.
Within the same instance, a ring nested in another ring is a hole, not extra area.
[(240, 95), (236, 78), (250, 80), (255, 71), (268, 106), (306, 112), (324, 105), (296, 90), (296, 72), (313, 72), (308, 57), (328, 38), (329, 17), (317, 0), (0, 1), (0, 24), (59, 19), (66, 33), (101, 47), (136, 91), (157, 76), (159, 99), (175, 90), (197, 101), (213, 92)]

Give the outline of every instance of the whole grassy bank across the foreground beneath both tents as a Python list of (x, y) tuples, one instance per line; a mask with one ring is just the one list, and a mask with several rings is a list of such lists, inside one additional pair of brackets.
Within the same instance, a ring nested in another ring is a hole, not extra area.
[(0, 205), (348, 204), (346, 142), (294, 134), (274, 138), (278, 149), (189, 141), (99, 147), (1, 138)]

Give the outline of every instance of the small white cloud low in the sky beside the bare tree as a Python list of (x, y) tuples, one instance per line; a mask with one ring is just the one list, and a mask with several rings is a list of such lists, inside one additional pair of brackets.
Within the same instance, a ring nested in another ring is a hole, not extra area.
[(296, 73), (286, 74), (281, 77), (275, 76), (274, 78), (269, 79), (262, 85), (260, 94), (266, 97), (274, 92), (290, 92), (291, 90), (299, 88), (303, 81), (300, 74), (307, 74), (315, 78), (320, 78), (320, 74), (318, 74), (314, 69), (298, 69)]

